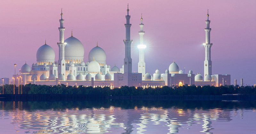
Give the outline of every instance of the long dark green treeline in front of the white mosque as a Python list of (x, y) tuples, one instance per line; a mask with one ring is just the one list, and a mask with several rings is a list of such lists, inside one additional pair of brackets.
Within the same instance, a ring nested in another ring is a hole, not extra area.
[[(0, 86), (0, 93), (3, 93), (3, 87)], [(18, 87), (15, 86), (15, 94), (18, 94)], [(20, 87), (21, 93), (21, 87)], [(129, 95), (221, 95), (221, 94), (236, 94), (241, 93), (244, 95), (256, 94), (254, 86), (179, 86), (162, 88), (146, 88), (138, 87), (137, 89), (132, 86), (122, 86), (121, 88), (110, 89), (109, 87), (96, 87), (92, 86), (46, 86), (26, 84), (22, 85), (22, 94), (102, 94), (106, 96), (129, 96)], [(4, 94), (13, 94), (13, 85), (4, 85)]]

